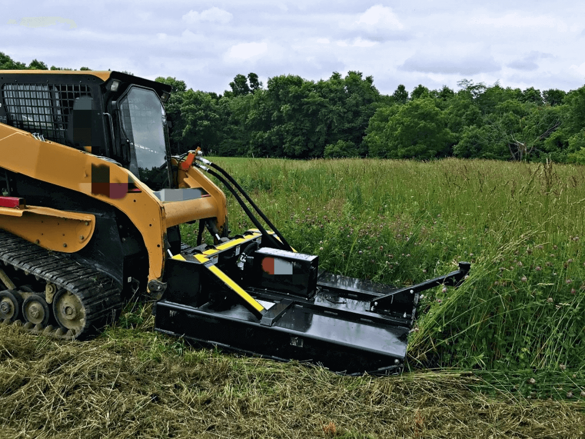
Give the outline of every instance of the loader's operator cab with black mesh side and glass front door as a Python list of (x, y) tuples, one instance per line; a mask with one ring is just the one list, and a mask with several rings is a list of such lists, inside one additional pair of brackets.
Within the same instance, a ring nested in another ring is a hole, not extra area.
[(116, 71), (2, 71), (0, 123), (119, 163), (159, 191), (172, 181), (170, 91)]

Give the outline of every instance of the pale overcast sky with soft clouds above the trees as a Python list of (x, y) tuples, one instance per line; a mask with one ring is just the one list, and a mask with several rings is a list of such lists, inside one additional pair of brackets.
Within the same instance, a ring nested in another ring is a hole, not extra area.
[[(4, 5), (2, 5), (4, 4)], [(0, 0), (0, 52), (47, 66), (171, 76), (222, 93), (238, 73), (308, 80), (333, 71), (457, 89), (585, 84), (585, 2)]]

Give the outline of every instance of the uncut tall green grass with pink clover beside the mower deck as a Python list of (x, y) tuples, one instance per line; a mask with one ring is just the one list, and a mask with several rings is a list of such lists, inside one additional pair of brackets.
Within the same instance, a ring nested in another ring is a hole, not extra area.
[[(585, 390), (584, 167), (214, 161), (325, 269), (408, 284), (447, 273), (459, 260), (473, 263), (459, 289), (425, 294), (409, 341), (412, 367), (490, 371), (494, 382), (512, 380), (528, 395)], [(233, 232), (253, 227), (228, 200)]]

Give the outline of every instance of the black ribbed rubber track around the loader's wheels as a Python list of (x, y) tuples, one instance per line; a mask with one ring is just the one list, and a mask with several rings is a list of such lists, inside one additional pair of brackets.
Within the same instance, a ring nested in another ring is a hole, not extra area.
[[(0, 260), (30, 275), (54, 283), (74, 293), (85, 307), (85, 327), (79, 334), (67, 334), (53, 327), (24, 325), (32, 332), (43, 332), (57, 338), (85, 339), (95, 335), (112, 321), (122, 308), (121, 286), (108, 275), (91, 266), (68, 258), (65, 253), (53, 252), (0, 230)], [(51, 304), (49, 304), (51, 306)], [(15, 322), (19, 325), (18, 321)]]

